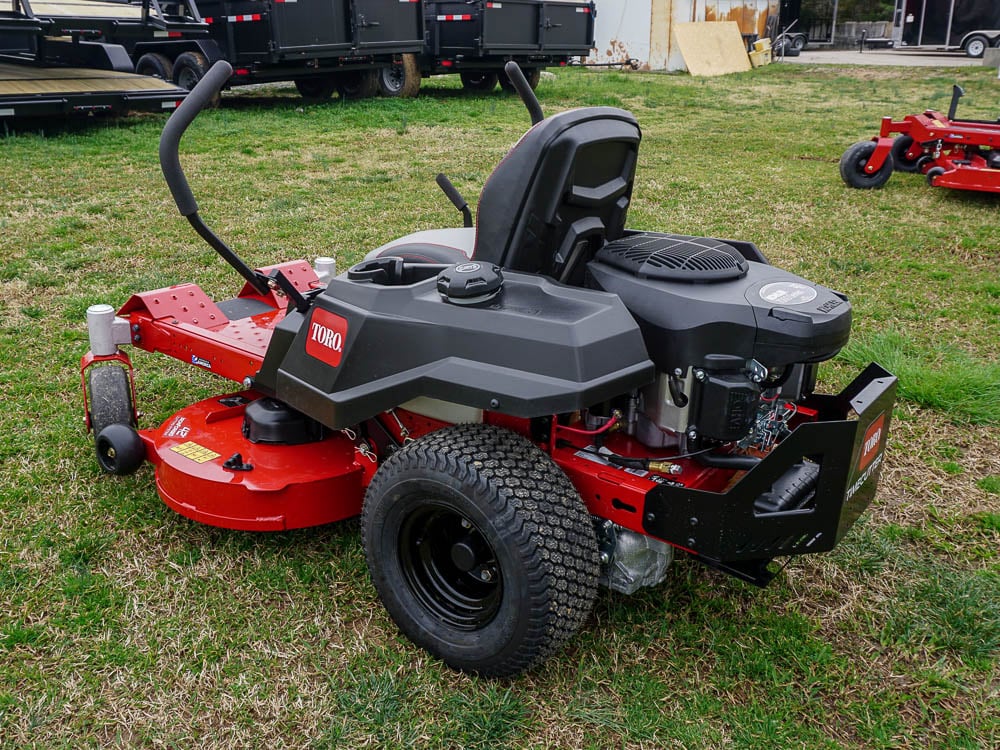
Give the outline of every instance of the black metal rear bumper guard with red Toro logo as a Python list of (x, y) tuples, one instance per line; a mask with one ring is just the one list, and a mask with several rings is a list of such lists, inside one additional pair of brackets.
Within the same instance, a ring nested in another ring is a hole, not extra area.
[[(896, 378), (870, 364), (837, 396), (813, 396), (819, 412), (800, 424), (726, 492), (660, 485), (646, 496), (647, 533), (758, 585), (773, 558), (833, 549), (871, 503), (896, 400)], [(803, 459), (819, 466), (812, 497), (795, 510), (754, 504)]]

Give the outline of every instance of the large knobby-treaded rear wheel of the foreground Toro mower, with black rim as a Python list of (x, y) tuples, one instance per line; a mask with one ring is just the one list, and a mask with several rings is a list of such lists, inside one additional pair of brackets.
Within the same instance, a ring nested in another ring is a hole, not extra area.
[(496, 427), (448, 427), (390, 456), (361, 532), (393, 620), (456, 669), (536, 666), (596, 596), (597, 540), (579, 495), (546, 454)]

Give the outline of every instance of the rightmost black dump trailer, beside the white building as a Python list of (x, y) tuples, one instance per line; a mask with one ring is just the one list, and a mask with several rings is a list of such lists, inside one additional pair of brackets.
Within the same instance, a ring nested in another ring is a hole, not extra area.
[(425, 0), (423, 7), (427, 44), (381, 72), (385, 95), (412, 95), (420, 77), (440, 73), (460, 74), (475, 91), (491, 91), (498, 81), (513, 91), (503, 72), (511, 60), (534, 88), (543, 68), (586, 57), (594, 47), (597, 13), (589, 0)]

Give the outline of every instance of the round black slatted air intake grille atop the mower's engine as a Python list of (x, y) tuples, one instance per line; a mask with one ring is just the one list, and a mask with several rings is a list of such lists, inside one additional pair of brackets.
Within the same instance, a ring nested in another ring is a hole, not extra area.
[(609, 242), (596, 259), (640, 278), (664, 281), (728, 281), (749, 270), (731, 245), (682, 234), (630, 234)]

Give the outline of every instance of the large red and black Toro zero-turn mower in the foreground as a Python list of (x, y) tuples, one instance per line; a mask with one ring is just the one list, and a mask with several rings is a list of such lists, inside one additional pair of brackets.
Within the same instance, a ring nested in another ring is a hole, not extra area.
[[(656, 585), (675, 554), (759, 586), (833, 549), (875, 495), (896, 379), (840, 394), (819, 364), (847, 298), (749, 242), (625, 226), (641, 132), (615, 107), (543, 117), (486, 181), (475, 226), (333, 262), (249, 268), (198, 216), (180, 138), (229, 78), (217, 63), (167, 122), (180, 213), (244, 279), (87, 311), (97, 459), (148, 461), (178, 513), (245, 531), (361, 515), (400, 630), (457, 669), (513, 675), (587, 619), (599, 585)], [(234, 381), (139, 429), (131, 344)]]

